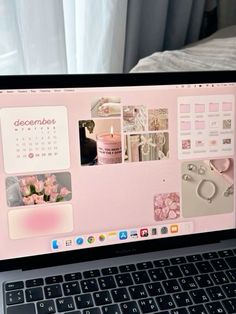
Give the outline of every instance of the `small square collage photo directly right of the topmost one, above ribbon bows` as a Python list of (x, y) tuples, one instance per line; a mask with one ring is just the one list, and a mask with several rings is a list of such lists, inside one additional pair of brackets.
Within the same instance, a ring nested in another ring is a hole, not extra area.
[(124, 132), (147, 131), (146, 106), (123, 107), (123, 131)]

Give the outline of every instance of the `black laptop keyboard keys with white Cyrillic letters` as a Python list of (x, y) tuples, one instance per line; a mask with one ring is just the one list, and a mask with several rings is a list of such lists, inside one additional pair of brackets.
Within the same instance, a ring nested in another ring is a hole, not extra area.
[(236, 313), (236, 249), (4, 284), (7, 314)]

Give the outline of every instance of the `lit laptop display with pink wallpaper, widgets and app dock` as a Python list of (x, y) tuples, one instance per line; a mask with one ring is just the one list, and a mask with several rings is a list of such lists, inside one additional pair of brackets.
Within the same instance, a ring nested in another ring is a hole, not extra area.
[(0, 91), (0, 260), (235, 228), (236, 83)]

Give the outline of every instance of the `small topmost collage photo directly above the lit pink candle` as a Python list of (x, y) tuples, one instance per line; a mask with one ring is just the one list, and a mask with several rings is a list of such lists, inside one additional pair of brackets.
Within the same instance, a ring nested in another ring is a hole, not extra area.
[(120, 97), (101, 97), (91, 105), (91, 116), (97, 117), (119, 117), (121, 116)]

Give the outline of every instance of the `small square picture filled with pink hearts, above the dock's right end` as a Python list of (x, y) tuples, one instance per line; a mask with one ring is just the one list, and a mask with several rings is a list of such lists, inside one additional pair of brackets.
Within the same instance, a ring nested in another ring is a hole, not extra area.
[(156, 194), (154, 196), (154, 219), (172, 220), (180, 217), (180, 196), (177, 192)]

